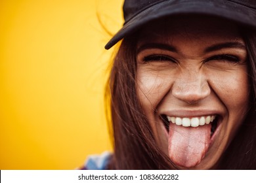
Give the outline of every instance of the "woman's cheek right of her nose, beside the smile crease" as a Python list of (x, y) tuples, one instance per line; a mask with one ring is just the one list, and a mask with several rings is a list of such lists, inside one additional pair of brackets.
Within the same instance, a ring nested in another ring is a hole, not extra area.
[(249, 79), (245, 68), (212, 75), (213, 91), (226, 107), (228, 131), (233, 133), (244, 121), (249, 105)]

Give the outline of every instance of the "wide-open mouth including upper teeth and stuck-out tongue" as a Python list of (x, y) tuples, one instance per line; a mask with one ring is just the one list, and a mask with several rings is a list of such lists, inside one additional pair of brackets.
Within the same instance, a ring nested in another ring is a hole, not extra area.
[(205, 157), (221, 124), (219, 114), (203, 116), (160, 115), (167, 132), (169, 158), (175, 165), (191, 168)]

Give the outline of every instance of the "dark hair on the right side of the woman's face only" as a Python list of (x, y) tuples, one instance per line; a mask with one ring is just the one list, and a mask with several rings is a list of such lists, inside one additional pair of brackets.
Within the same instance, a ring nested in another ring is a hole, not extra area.
[(256, 30), (242, 30), (247, 48), (250, 110), (223, 156), (220, 169), (256, 169)]

